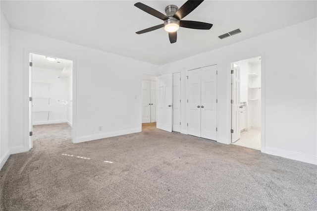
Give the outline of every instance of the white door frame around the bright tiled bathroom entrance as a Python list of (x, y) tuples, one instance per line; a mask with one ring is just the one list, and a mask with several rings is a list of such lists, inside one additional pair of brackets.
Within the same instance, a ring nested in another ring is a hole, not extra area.
[(261, 56), (261, 152), (265, 153), (265, 53), (251, 53), (242, 56), (236, 56), (235, 58), (230, 58), (227, 61), (227, 106), (228, 106), (228, 137), (229, 137), (229, 144), (232, 144), (232, 137), (231, 137), (231, 121), (232, 121), (232, 114), (231, 114), (231, 63), (236, 61), (245, 60), (248, 58), (253, 58)]

